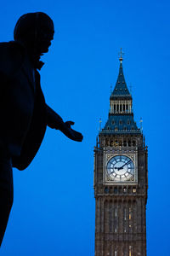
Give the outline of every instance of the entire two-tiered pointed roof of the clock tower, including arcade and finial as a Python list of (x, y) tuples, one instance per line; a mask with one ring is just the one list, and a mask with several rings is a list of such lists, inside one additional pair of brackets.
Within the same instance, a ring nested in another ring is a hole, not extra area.
[[(116, 80), (115, 89), (111, 93), (110, 97), (110, 112), (106, 124), (100, 134), (141, 134), (141, 130), (136, 125), (133, 119), (132, 101), (133, 98), (127, 89), (127, 84), (124, 78), (122, 70), (122, 49), (121, 56), (119, 58), (120, 67), (119, 74)], [(121, 100), (121, 103), (120, 103)], [(127, 105), (126, 101), (130, 104)], [(118, 103), (117, 103), (118, 102)], [(116, 108), (115, 108), (116, 107)], [(118, 108), (117, 108), (118, 107)]]

